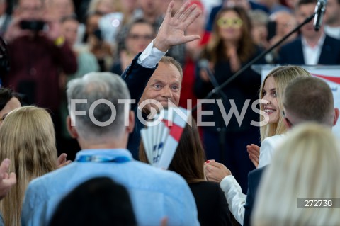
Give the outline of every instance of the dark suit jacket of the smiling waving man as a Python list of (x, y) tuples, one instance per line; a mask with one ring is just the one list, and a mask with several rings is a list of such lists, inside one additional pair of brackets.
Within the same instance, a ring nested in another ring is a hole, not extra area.
[(131, 105), (131, 109), (135, 111), (135, 128), (129, 136), (128, 150), (132, 153), (132, 157), (137, 160), (139, 159), (138, 149), (140, 147), (140, 130), (145, 127), (137, 118), (138, 102), (147, 86), (147, 82), (158, 66), (157, 64), (155, 68), (145, 68), (140, 64), (137, 64), (137, 59), (140, 57), (140, 54), (141, 53), (132, 60), (131, 65), (125, 69), (125, 72), (123, 72), (121, 76), (128, 85), (131, 99), (135, 100), (135, 103)]

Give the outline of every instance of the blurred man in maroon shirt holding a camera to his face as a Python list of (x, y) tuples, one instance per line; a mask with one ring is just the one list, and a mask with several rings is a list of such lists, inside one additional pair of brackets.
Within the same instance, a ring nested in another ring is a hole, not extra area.
[[(61, 72), (77, 71), (77, 59), (64, 41), (60, 22), (47, 15), (45, 1), (19, 0), (4, 38), (11, 69), (4, 86), (26, 94), (35, 105), (49, 108), (55, 125), (60, 105)], [(56, 132), (58, 135), (58, 128)]]

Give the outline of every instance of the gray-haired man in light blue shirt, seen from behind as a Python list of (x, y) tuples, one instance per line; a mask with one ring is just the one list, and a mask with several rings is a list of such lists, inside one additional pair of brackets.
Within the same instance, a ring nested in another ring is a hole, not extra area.
[[(23, 202), (23, 226), (47, 224), (62, 196), (98, 176), (108, 176), (128, 189), (138, 225), (160, 225), (163, 217), (169, 217), (169, 225), (199, 225), (186, 181), (174, 172), (135, 161), (126, 149), (135, 115), (118, 103), (130, 99), (123, 79), (109, 72), (86, 74), (69, 82), (67, 98), (69, 132), (82, 150), (72, 164), (30, 183)], [(87, 103), (74, 106), (77, 99)], [(109, 101), (93, 109), (98, 100)]]

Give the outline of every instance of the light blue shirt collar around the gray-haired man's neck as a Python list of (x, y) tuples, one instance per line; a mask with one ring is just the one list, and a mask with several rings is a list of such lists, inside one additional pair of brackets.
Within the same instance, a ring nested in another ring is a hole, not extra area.
[(77, 153), (77, 162), (128, 162), (132, 154), (128, 149), (84, 149)]

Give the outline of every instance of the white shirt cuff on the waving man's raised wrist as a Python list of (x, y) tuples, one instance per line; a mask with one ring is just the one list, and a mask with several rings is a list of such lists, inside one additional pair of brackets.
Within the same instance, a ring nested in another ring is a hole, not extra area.
[(154, 68), (158, 64), (159, 60), (166, 55), (166, 52), (162, 52), (154, 47), (154, 40), (152, 40), (152, 42), (142, 52), (140, 57), (138, 57), (137, 64), (146, 68)]

